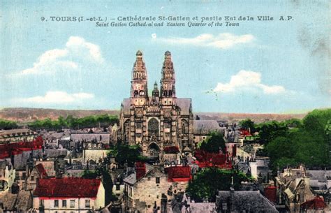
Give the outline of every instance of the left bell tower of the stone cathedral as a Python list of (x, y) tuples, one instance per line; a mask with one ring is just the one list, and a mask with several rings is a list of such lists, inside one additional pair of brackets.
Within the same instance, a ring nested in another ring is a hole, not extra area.
[(131, 80), (131, 105), (145, 105), (148, 103), (147, 71), (142, 60), (142, 52), (138, 50), (135, 55)]

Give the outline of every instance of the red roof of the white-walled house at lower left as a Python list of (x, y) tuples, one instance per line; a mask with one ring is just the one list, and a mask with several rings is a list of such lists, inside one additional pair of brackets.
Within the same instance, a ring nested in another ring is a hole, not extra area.
[(43, 198), (96, 198), (101, 179), (38, 179), (34, 196)]

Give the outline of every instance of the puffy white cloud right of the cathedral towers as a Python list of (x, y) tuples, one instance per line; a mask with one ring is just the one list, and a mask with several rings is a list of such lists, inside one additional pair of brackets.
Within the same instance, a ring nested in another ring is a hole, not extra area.
[(263, 91), (264, 94), (281, 94), (286, 91), (283, 86), (278, 85), (264, 85), (261, 82), (261, 73), (253, 71), (239, 71), (237, 74), (231, 76), (228, 83), (217, 83), (213, 89), (214, 92), (230, 93), (238, 90), (258, 90)]

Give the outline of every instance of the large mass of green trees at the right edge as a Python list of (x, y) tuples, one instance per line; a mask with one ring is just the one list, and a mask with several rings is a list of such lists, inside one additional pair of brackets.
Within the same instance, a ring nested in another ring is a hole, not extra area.
[[(295, 130), (270, 131), (270, 142), (265, 146), (274, 173), (277, 168), (298, 166), (323, 168), (328, 165), (328, 140), (325, 125), (331, 119), (331, 110), (309, 112), (302, 125)], [(297, 122), (296, 122), (297, 123)], [(282, 132), (283, 131), (283, 132)], [(280, 133), (281, 132), (281, 133)]]

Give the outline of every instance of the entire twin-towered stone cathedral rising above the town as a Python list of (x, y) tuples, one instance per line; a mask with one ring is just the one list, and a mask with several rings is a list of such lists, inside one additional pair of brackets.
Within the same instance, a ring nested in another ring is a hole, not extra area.
[(175, 70), (169, 51), (164, 54), (160, 87), (147, 88), (147, 70), (142, 52), (133, 64), (130, 98), (124, 98), (119, 115), (119, 138), (127, 145), (139, 145), (142, 154), (158, 157), (165, 147), (181, 152), (193, 149), (191, 98), (177, 98)]

